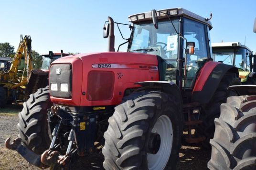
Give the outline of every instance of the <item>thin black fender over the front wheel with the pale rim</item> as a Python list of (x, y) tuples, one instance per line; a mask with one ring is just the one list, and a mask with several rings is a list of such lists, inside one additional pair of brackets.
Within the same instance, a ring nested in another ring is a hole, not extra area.
[(179, 87), (173, 82), (167, 81), (145, 81), (135, 83), (141, 85), (142, 87), (149, 87), (149, 89), (161, 89), (162, 92), (174, 96), (176, 104), (182, 110), (182, 96)]

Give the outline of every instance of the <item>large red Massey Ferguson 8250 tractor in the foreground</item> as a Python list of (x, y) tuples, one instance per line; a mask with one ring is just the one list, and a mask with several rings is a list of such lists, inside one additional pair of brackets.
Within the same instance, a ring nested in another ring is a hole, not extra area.
[(127, 52), (114, 52), (108, 17), (109, 52), (52, 63), (49, 86), (24, 103), (7, 148), (40, 168), (68, 169), (97, 143), (107, 170), (163, 170), (175, 169), (183, 131), (186, 142), (209, 141), (220, 104), (235, 94), (227, 87), (241, 84), (237, 68), (211, 58), (211, 22), (182, 8), (128, 19)]

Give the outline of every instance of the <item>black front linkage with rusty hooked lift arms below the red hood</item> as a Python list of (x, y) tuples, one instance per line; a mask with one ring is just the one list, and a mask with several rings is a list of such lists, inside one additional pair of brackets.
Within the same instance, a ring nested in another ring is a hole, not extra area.
[(84, 114), (67, 112), (68, 107), (52, 106), (48, 112), (48, 123), (52, 131), (52, 142), (48, 150), (37, 155), (21, 144), (17, 138), (5, 142), (8, 149), (18, 151), (33, 165), (45, 169), (60, 167), (69, 169), (76, 155), (85, 156), (95, 151), (94, 142), (98, 127), (98, 113)]

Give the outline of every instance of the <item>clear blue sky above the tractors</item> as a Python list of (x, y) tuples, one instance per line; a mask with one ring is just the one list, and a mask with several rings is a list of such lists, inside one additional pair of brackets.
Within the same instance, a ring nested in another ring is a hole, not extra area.
[[(20, 34), (31, 35), (32, 49), (107, 51), (102, 28), (107, 16), (128, 24), (128, 16), (151, 9), (182, 7), (202, 17), (213, 13), (212, 42), (239, 41), (256, 52), (256, 0), (0, 0), (0, 43), (18, 47)], [(124, 37), (129, 29), (121, 27)], [(124, 42), (115, 29), (116, 49)], [(124, 49), (123, 49), (124, 50)]]

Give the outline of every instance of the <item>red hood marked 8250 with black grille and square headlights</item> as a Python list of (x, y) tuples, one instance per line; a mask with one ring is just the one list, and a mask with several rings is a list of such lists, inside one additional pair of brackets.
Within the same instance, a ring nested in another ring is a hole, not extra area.
[(53, 103), (116, 105), (136, 82), (159, 80), (156, 56), (131, 52), (79, 54), (55, 60), (49, 85)]

